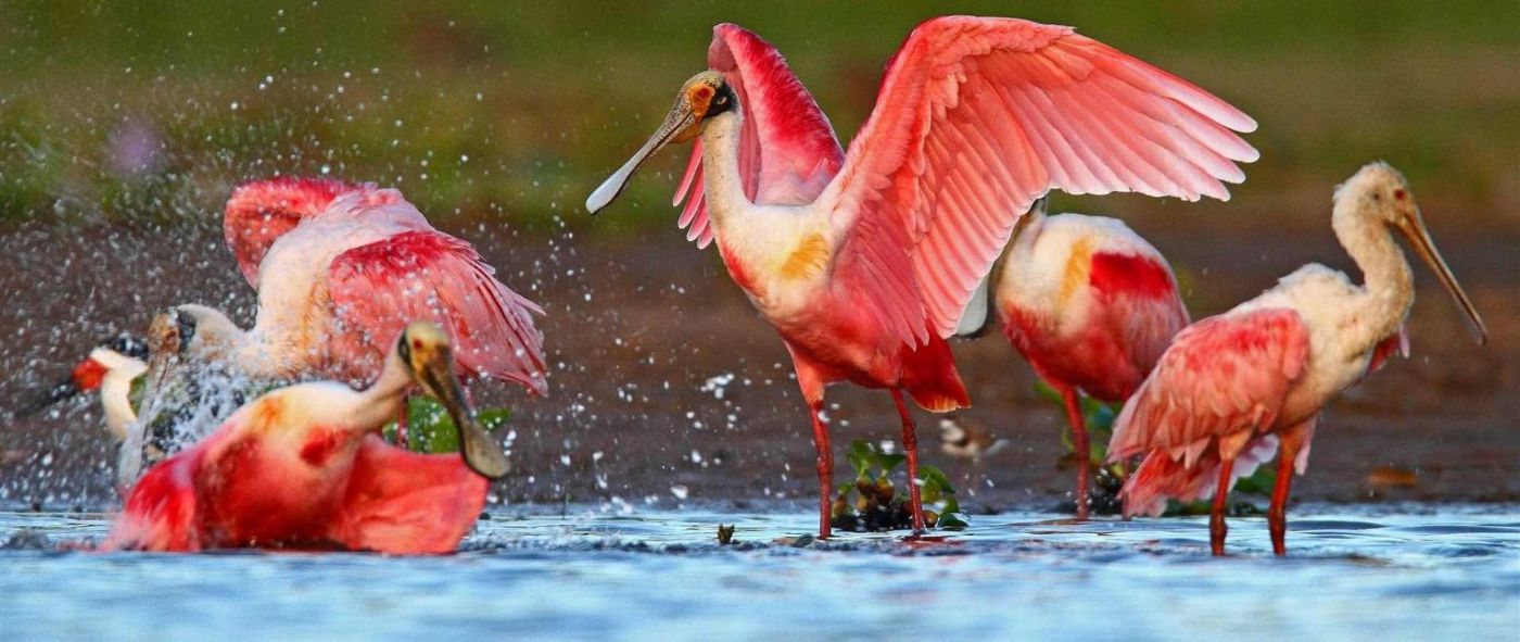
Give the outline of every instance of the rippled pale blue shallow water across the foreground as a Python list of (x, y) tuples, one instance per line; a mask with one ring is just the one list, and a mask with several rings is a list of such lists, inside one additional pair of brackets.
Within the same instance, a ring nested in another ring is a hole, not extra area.
[[(845, 534), (803, 513), (497, 514), (464, 552), (58, 552), (97, 514), (0, 513), (0, 639), (1515, 639), (1515, 507), (1310, 505), (1289, 558), (1262, 519), (1234, 557), (1204, 519), (977, 516), (947, 542)], [(719, 522), (739, 545), (720, 548)]]

